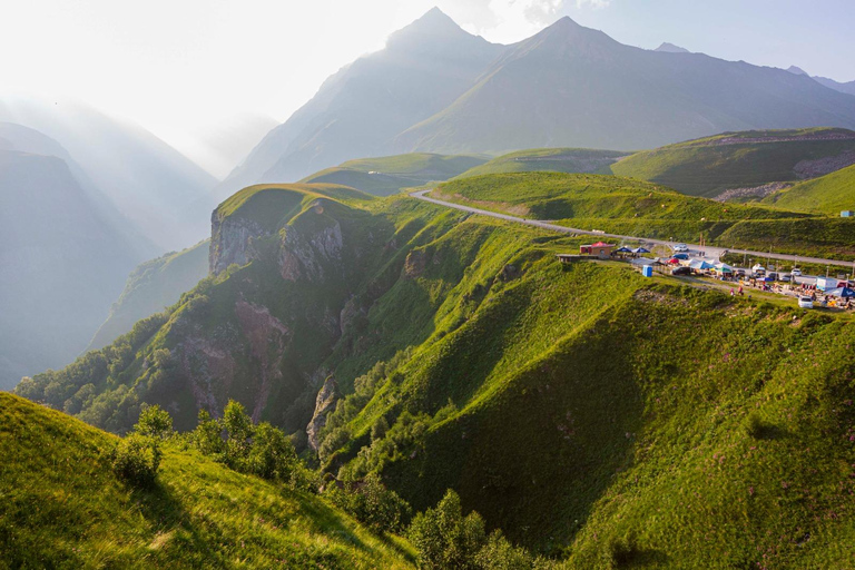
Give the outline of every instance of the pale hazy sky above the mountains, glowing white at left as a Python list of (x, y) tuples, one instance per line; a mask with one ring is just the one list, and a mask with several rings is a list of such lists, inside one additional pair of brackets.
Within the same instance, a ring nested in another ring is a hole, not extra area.
[[(285, 120), (439, 6), (497, 42), (561, 16), (623, 43), (855, 79), (853, 0), (2, 0), (0, 91), (72, 96), (194, 154), (218, 125)], [(256, 117), (257, 119), (257, 117)]]

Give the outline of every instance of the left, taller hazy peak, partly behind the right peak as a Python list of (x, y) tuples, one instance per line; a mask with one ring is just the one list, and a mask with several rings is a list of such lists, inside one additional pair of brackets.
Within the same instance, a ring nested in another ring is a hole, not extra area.
[(391, 154), (395, 135), (451, 104), (503, 50), (431, 10), (393, 33), (385, 49), (331, 77), (315, 98), (268, 134), (217, 195)]

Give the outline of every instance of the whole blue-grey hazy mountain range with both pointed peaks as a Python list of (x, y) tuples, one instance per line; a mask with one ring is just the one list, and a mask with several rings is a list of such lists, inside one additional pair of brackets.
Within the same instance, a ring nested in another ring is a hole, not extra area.
[(636, 150), (731, 130), (855, 128), (855, 97), (820, 82), (670, 43), (625, 46), (569, 18), (499, 46), (433, 9), (327, 79), (215, 195), (357, 157)]

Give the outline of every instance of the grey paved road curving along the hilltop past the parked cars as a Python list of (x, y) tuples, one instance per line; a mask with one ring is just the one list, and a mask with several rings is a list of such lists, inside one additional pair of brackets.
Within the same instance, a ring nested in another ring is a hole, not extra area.
[[(534, 226), (541, 229), (547, 229), (550, 232), (559, 232), (562, 234), (571, 234), (571, 235), (583, 234), (583, 235), (591, 235), (597, 237), (612, 237), (616, 239), (631, 239), (633, 242), (643, 242), (645, 244), (664, 245), (667, 247), (671, 247), (675, 244), (675, 242), (668, 242), (665, 239), (652, 239), (649, 237), (625, 236), (620, 234), (606, 234), (602, 232), (591, 232), (588, 229), (559, 226), (558, 224), (550, 224), (549, 222), (542, 222), (539, 219), (527, 219), (527, 218), (520, 218), (517, 216), (511, 216), (509, 214), (499, 214), (497, 212), (473, 208), (471, 206), (463, 206), (462, 204), (454, 204), (452, 202), (438, 200), (436, 198), (431, 198), (428, 196), (428, 193), (430, 191), (431, 189), (417, 190), (417, 191), (411, 193), (410, 196), (412, 196), (413, 198), (417, 198), (420, 200), (430, 202), (431, 204), (436, 204), (439, 206), (445, 206), (448, 208), (469, 212), (470, 214), (490, 216), (493, 218), (504, 219), (508, 222), (515, 222), (518, 224), (525, 224), (527, 226)], [(794, 262), (794, 263), (802, 262), (802, 263), (813, 263), (813, 264), (822, 264), (822, 265), (835, 265), (839, 267), (852, 268), (855, 271), (855, 262), (842, 262), (839, 259), (824, 259), (822, 257), (805, 257), (802, 255), (778, 254), (774, 252), (769, 253), (769, 252), (753, 252), (750, 249), (727, 249), (724, 247), (712, 247), (712, 246), (706, 246), (706, 245), (701, 247), (700, 245), (697, 245), (697, 244), (687, 244), (687, 245), (694, 252), (704, 252), (705, 257), (712, 258), (712, 259), (719, 259), (725, 252), (728, 252), (731, 254), (748, 255), (751, 257), (756, 257), (757, 259), (760, 259), (760, 261), (772, 258), (772, 259), (782, 259), (782, 261)]]

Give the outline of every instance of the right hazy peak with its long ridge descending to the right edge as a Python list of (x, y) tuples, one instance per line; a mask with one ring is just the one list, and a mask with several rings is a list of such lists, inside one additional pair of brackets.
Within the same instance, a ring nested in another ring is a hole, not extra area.
[(500, 57), (399, 151), (638, 149), (726, 130), (855, 127), (855, 97), (784, 70), (623, 46), (563, 18)]

